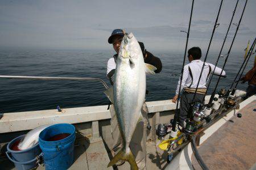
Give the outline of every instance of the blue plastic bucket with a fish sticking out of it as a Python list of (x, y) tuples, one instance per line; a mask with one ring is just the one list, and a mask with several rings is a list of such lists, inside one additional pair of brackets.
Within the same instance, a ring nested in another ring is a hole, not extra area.
[(7, 144), (7, 157), (15, 164), (16, 169), (25, 170), (25, 169), (32, 169), (38, 166), (39, 157), (42, 156), (42, 152), (40, 150), (39, 144), (28, 148), (27, 150), (22, 151), (14, 151), (11, 150), (13, 144), (17, 141), (22, 139), (24, 135), (19, 136), (11, 140)]

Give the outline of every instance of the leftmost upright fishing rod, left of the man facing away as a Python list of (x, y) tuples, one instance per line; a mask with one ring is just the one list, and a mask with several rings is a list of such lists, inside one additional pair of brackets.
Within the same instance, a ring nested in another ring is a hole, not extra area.
[(189, 18), (189, 24), (188, 24), (188, 32), (181, 31), (181, 32), (187, 33), (187, 40), (186, 40), (186, 45), (185, 45), (184, 57), (183, 57), (183, 65), (182, 65), (182, 69), (181, 69), (180, 86), (179, 86), (179, 93), (178, 93), (178, 97), (177, 97), (175, 117), (174, 117), (174, 121), (172, 121), (172, 131), (176, 131), (176, 123), (177, 123), (177, 119), (179, 118), (178, 106), (179, 106), (180, 90), (181, 90), (182, 79), (183, 79), (185, 59), (186, 59), (186, 54), (187, 54), (188, 38), (189, 38), (189, 32), (190, 32), (190, 26), (191, 26), (191, 19), (192, 19), (192, 14), (193, 14), (193, 6), (194, 6), (194, 0), (192, 0), (192, 7), (191, 7), (190, 18)]

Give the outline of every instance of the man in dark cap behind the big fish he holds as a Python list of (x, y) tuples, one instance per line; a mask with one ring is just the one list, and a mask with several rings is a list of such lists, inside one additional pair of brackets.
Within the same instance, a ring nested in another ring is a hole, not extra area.
[[(113, 44), (113, 48), (115, 52), (117, 52), (112, 58), (108, 60), (108, 67), (107, 67), (107, 77), (110, 80), (110, 83), (113, 85), (113, 77), (115, 73), (116, 61), (119, 52), (119, 48), (121, 46), (121, 42), (123, 39), (123, 30), (115, 29), (112, 32), (112, 35), (109, 37), (108, 42), (109, 44)], [(159, 73), (162, 70), (162, 63), (158, 57), (155, 57), (150, 52), (146, 51), (144, 48), (144, 44), (138, 42), (141, 46), (142, 54), (144, 57), (144, 62), (147, 64), (154, 65), (157, 69), (155, 73)], [(146, 126), (147, 126), (147, 107), (146, 104), (143, 103), (142, 106), (142, 116), (143, 122), (139, 122), (137, 127), (135, 128), (133, 138), (131, 139), (130, 148), (135, 156), (135, 161), (138, 165), (139, 169), (146, 169)], [(117, 117), (115, 115), (114, 106), (110, 106), (110, 114), (111, 114), (111, 130), (112, 130), (112, 138), (113, 144), (108, 144), (110, 150), (112, 151), (112, 155), (118, 153), (118, 151), (122, 148), (122, 136), (119, 131)], [(122, 165), (123, 161), (119, 161), (115, 165)]]

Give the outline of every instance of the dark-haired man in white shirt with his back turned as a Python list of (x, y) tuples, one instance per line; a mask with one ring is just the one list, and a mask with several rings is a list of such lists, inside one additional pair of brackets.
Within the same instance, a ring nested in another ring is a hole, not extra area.
[[(211, 73), (213, 73), (214, 65), (210, 63), (205, 63), (203, 73), (200, 78), (199, 86), (197, 88), (195, 99), (193, 100), (196, 86), (199, 81), (201, 69), (203, 67), (203, 61), (201, 58), (201, 49), (199, 47), (192, 47), (188, 50), (188, 60), (189, 64), (184, 66), (183, 78), (181, 81), (180, 92), (183, 92), (180, 101), (180, 115), (179, 122), (183, 125), (183, 122), (187, 118), (189, 107), (192, 102), (203, 102), (204, 96), (207, 90), (207, 81)], [(221, 68), (216, 67), (214, 74), (221, 74)], [(222, 76), (225, 76), (225, 71), (222, 72)], [(180, 79), (177, 84), (176, 94), (172, 99), (172, 102), (177, 101), (180, 88)]]

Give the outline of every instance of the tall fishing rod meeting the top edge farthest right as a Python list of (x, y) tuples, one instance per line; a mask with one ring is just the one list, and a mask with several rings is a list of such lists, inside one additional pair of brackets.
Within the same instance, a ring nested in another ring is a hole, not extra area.
[[(243, 13), (245, 12), (246, 4), (247, 4), (247, 0), (246, 0), (246, 2), (245, 2), (245, 6), (243, 6), (243, 11), (242, 11), (240, 20), (239, 20), (239, 22), (238, 22), (238, 24), (237, 24), (237, 29), (236, 29), (236, 32), (235, 32), (235, 34), (234, 34), (232, 43), (230, 44), (229, 51), (228, 51), (228, 54), (227, 54), (226, 59), (225, 59), (225, 61), (224, 61), (224, 64), (223, 64), (223, 66), (222, 66), (220, 75), (222, 75), (222, 72), (224, 71), (224, 68), (225, 68), (225, 65), (226, 65), (226, 61), (228, 61), (228, 57), (229, 57), (230, 51), (231, 51), (231, 49), (232, 49), (234, 40), (236, 39), (237, 31), (238, 31), (238, 29), (239, 29), (239, 27), (240, 27), (240, 23), (241, 23), (241, 20), (242, 20), (242, 18), (243, 18)], [(232, 16), (232, 18), (233, 18), (233, 16)], [(230, 26), (229, 26), (229, 27), (230, 27)], [(215, 67), (216, 67), (216, 66), (215, 66)], [(209, 103), (208, 103), (208, 106), (209, 106), (210, 104), (212, 104), (212, 101), (213, 101), (214, 95), (215, 95), (215, 93), (216, 93), (216, 89), (217, 89), (218, 83), (220, 82), (220, 78), (221, 78), (221, 76), (218, 77), (218, 81), (217, 81), (217, 83), (216, 83), (216, 86), (215, 86), (215, 88), (214, 88), (214, 90), (213, 90), (213, 92), (212, 92), (212, 95), (210, 96), (210, 101), (209, 101)], [(209, 88), (209, 85), (208, 85), (208, 88)]]

